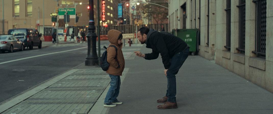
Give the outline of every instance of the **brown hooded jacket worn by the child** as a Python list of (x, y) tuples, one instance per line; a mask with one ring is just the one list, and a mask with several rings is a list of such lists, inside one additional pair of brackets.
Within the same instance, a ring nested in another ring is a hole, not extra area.
[[(122, 53), (122, 43), (118, 45), (118, 37), (122, 35), (121, 32), (118, 30), (109, 30), (108, 31), (108, 40), (110, 42), (110, 45), (114, 45), (117, 47), (117, 53), (116, 49), (114, 47), (108, 47), (107, 48), (107, 62), (110, 64), (108, 67), (108, 70), (106, 73), (111, 75), (118, 75), (121, 76), (122, 72), (124, 70), (125, 61)], [(116, 56), (117, 55), (117, 56)], [(117, 57), (117, 61), (115, 59)]]

